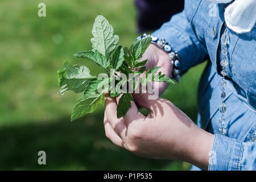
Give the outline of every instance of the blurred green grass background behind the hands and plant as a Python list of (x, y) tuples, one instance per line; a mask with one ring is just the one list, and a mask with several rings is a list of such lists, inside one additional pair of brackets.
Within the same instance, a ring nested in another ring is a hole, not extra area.
[[(46, 17), (38, 4), (46, 3)], [(0, 1), (0, 169), (187, 170), (190, 164), (139, 158), (105, 137), (104, 107), (76, 122), (69, 118), (80, 96), (59, 96), (63, 60), (102, 70), (73, 53), (91, 49), (94, 18), (108, 18), (120, 44), (137, 38), (133, 1)], [(163, 97), (196, 121), (197, 85), (204, 64), (192, 68)], [(38, 164), (46, 151), (47, 165)]]

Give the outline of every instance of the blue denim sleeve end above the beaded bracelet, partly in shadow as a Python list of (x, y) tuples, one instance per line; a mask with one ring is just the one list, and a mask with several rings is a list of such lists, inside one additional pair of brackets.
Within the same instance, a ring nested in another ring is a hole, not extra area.
[(172, 16), (169, 22), (164, 23), (152, 35), (166, 39), (172, 49), (179, 53), (181, 75), (206, 59), (207, 53), (193, 33), (184, 11)]

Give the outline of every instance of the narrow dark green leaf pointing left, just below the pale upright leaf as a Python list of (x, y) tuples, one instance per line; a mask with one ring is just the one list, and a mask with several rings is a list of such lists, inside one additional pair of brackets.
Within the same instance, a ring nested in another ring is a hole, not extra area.
[(98, 65), (101, 65), (101, 67), (103, 67), (103, 68), (107, 68), (110, 65), (110, 60), (107, 59), (106, 56), (102, 55), (97, 50), (95, 52), (93, 52), (93, 51), (78, 52), (78, 53), (75, 53), (74, 56), (79, 57), (79, 58), (93, 60)]

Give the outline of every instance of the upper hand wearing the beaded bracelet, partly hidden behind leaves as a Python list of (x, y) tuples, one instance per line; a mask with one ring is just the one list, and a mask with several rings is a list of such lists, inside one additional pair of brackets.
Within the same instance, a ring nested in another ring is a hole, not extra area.
[[(158, 72), (162, 72), (166, 74), (167, 77), (171, 76), (172, 73), (172, 64), (169, 59), (169, 56), (163, 49), (155, 46), (155, 44), (150, 44), (146, 51), (143, 53), (141, 60), (146, 60), (146, 70), (152, 67), (161, 67)], [(158, 87), (158, 88), (156, 88)], [(164, 82), (159, 82), (155, 84), (155, 89), (159, 89), (159, 96), (164, 92), (167, 88), (167, 84)]]

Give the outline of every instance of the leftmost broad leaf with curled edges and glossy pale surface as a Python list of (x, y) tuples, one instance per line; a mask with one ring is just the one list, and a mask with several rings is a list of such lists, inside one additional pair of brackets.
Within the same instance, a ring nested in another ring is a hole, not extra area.
[(68, 90), (73, 90), (75, 93), (80, 93), (85, 90), (89, 81), (95, 79), (95, 76), (90, 75), (89, 68), (79, 65), (71, 65), (64, 61), (63, 69), (58, 71), (60, 95)]

